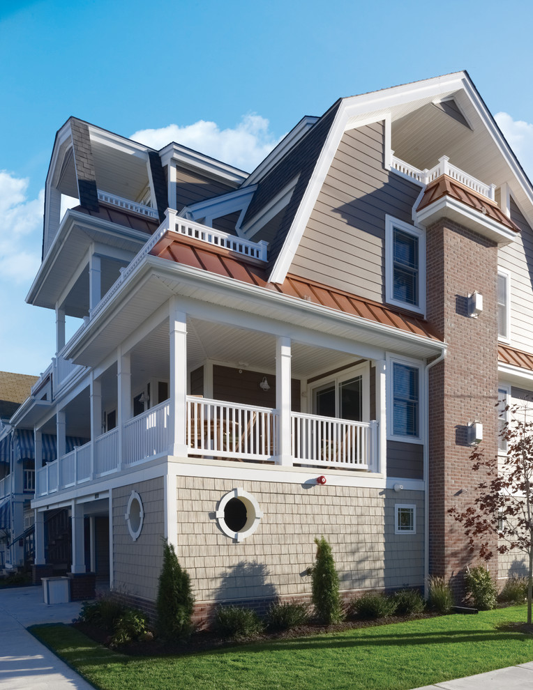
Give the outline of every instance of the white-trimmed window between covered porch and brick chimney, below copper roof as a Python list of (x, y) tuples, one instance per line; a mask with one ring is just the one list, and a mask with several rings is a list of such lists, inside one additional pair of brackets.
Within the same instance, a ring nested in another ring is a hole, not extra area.
[(391, 433), (401, 440), (421, 438), (420, 367), (391, 360)]

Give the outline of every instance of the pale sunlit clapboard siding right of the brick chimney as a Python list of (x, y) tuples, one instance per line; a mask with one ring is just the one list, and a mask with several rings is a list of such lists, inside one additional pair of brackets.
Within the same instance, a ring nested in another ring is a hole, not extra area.
[(516, 242), (499, 250), (498, 263), (511, 275), (511, 344), (533, 351), (533, 230), (511, 199), (511, 220), (520, 228)]

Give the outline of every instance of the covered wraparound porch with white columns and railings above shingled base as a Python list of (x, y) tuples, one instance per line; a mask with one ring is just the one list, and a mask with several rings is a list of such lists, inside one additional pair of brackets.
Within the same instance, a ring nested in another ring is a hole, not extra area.
[(302, 332), (246, 328), (242, 314), (229, 323), (180, 307), (171, 298), (166, 316), (154, 314), (58, 411), (57, 434), (80, 433), (82, 411), (91, 440), (36, 458), (36, 498), (164, 456), (380, 472), (381, 351), (370, 358), (363, 344), (333, 348), (310, 333), (303, 342)]

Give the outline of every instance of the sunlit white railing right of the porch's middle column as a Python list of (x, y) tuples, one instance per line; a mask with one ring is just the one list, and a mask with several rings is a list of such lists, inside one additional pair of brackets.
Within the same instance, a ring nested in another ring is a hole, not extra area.
[(367, 470), (377, 449), (377, 422), (291, 414), (292, 458), (318, 467)]

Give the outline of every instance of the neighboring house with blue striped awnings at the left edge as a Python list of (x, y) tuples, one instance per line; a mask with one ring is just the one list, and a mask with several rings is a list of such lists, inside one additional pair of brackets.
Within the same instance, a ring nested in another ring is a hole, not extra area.
[(13, 429), (9, 420), (37, 378), (0, 371), (0, 570), (33, 558), (33, 433)]

